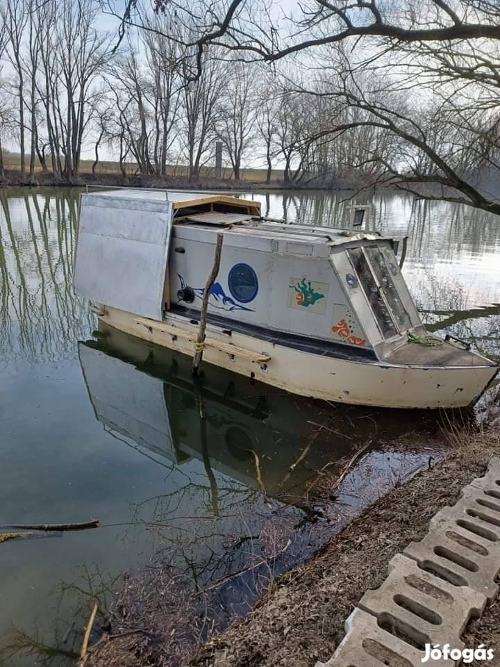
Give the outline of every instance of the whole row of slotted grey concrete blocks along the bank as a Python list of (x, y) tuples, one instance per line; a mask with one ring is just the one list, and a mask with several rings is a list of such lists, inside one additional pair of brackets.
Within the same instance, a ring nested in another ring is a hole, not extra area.
[(462, 649), (460, 635), (497, 595), (499, 573), (500, 458), (494, 458), (453, 507), (435, 515), (422, 541), (392, 559), (385, 582), (367, 591), (347, 619), (333, 657), (316, 667), (417, 667), (425, 644)]

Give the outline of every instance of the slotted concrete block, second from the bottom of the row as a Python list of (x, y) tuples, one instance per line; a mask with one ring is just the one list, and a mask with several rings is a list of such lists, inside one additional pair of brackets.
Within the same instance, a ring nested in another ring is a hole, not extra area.
[(417, 645), (450, 643), (461, 649), (462, 630), (469, 618), (481, 616), (485, 604), (482, 593), (453, 586), (397, 554), (389, 563), (385, 582), (367, 591), (358, 607)]

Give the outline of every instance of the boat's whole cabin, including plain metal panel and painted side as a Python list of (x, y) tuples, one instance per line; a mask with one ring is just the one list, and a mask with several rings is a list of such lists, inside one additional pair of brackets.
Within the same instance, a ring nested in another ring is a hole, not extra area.
[(196, 320), (217, 233), (222, 261), (208, 313), (222, 327), (379, 359), (422, 327), (392, 238), (267, 220), (258, 201), (224, 195), (82, 195), (76, 290), (153, 320)]

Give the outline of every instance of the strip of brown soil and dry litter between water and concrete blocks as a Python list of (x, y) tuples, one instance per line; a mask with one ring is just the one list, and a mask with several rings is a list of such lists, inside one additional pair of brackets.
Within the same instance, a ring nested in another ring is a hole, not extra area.
[(277, 582), (243, 623), (208, 643), (190, 665), (313, 667), (318, 659), (327, 661), (345, 619), (367, 588), (381, 585), (390, 559), (421, 539), (436, 511), (453, 505), (463, 486), (500, 454), (497, 432), (470, 431), (463, 438), (451, 432), (449, 438), (456, 445), (449, 459), (394, 488), (317, 558)]

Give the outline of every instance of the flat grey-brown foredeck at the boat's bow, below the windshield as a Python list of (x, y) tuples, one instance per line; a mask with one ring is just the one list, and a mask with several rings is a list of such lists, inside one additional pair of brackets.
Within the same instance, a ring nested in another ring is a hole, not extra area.
[(472, 351), (457, 347), (452, 343), (442, 345), (419, 345), (406, 343), (385, 357), (384, 361), (412, 366), (429, 366), (444, 368), (445, 366), (494, 366), (495, 363)]

